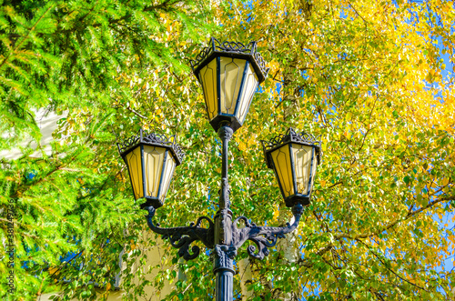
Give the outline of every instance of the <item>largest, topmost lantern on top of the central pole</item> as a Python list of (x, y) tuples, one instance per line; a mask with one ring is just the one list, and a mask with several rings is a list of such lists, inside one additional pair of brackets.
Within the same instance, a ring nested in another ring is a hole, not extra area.
[(212, 37), (211, 45), (190, 61), (204, 90), (208, 120), (215, 131), (221, 124), (234, 131), (243, 125), (251, 99), (268, 75), (269, 68), (256, 45), (219, 43)]

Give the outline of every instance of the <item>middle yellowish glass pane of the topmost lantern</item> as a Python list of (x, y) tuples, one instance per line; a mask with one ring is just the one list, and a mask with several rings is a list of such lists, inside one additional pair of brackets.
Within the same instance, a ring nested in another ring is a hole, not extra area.
[(219, 63), (221, 113), (234, 114), (247, 61), (238, 58), (220, 57)]

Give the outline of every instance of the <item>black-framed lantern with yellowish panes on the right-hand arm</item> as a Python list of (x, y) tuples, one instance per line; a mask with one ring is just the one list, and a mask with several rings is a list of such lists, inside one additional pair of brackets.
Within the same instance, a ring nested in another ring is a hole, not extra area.
[(275, 172), (286, 206), (308, 205), (320, 162), (320, 141), (289, 128), (285, 135), (261, 142), (268, 168)]

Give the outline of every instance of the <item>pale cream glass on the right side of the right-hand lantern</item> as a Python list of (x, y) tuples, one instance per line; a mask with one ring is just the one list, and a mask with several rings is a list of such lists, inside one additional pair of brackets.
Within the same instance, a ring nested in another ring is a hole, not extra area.
[[(311, 158), (313, 157), (313, 147), (308, 145), (292, 145), (292, 156), (294, 158), (294, 168), (296, 170), (297, 190), (299, 194), (308, 195), (308, 181), (311, 176), (313, 182), (316, 171), (316, 158), (313, 161), (313, 172), (311, 172)], [(312, 186), (312, 183), (311, 183)]]

